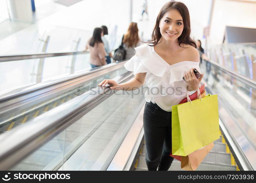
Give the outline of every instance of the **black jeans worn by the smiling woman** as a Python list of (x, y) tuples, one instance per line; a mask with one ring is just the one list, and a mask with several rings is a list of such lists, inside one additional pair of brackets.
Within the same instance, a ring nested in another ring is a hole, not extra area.
[(143, 115), (146, 165), (148, 170), (167, 171), (173, 161), (171, 153), (171, 112), (146, 102)]

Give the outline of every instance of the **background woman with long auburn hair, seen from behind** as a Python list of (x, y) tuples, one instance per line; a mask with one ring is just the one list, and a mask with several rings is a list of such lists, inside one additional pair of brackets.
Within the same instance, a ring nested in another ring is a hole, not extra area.
[(138, 32), (139, 30), (137, 23), (131, 22), (127, 33), (123, 37), (123, 47), (126, 51), (125, 60), (129, 60), (131, 57), (133, 57), (136, 53), (134, 48), (141, 45)]

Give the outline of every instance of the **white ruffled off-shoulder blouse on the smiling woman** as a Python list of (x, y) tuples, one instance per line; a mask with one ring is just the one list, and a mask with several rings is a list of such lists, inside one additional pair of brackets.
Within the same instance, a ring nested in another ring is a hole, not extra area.
[(190, 68), (200, 71), (199, 62), (181, 61), (168, 64), (147, 44), (135, 48), (136, 55), (125, 63), (128, 71), (133, 74), (146, 72), (146, 85), (148, 90), (143, 90), (147, 102), (156, 103), (165, 111), (171, 111), (172, 105), (177, 105), (186, 98), (188, 84), (183, 76)]

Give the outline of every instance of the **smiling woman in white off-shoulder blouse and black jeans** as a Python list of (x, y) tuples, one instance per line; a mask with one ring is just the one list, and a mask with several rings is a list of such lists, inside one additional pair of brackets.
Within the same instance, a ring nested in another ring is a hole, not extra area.
[[(110, 85), (113, 90), (135, 90), (146, 81), (146, 105), (143, 128), (148, 170), (168, 170), (171, 153), (171, 110), (188, 91), (199, 88), (203, 78), (196, 78), (193, 69), (199, 68), (199, 52), (190, 38), (189, 11), (185, 4), (171, 1), (159, 12), (152, 40), (135, 48), (136, 55), (125, 68), (134, 72), (130, 81), (118, 84), (104, 79), (99, 86)], [(184, 80), (183, 80), (184, 76)], [(157, 91), (157, 92), (156, 92)]]

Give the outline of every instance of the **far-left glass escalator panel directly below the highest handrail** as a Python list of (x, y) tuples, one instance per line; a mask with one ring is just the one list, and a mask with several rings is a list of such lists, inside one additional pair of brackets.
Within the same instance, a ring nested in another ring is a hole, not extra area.
[(89, 54), (0, 62), (0, 96), (89, 70)]

